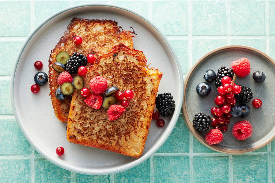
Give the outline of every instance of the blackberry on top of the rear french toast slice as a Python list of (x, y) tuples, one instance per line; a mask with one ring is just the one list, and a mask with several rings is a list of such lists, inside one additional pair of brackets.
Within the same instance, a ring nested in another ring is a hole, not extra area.
[(87, 65), (87, 57), (82, 53), (74, 52), (66, 62), (66, 71), (70, 74), (77, 74), (77, 70), (80, 66)]

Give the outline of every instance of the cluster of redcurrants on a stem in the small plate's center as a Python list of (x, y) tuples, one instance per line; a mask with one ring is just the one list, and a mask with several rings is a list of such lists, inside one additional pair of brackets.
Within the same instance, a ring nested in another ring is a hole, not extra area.
[[(230, 77), (225, 76), (222, 78), (222, 85), (218, 88), (218, 95), (215, 98), (215, 104), (219, 107), (212, 107), (211, 114), (216, 116), (217, 118), (212, 118), (212, 126), (214, 129), (219, 129), (221, 131), (227, 131), (230, 120), (232, 117), (230, 114), (231, 106), (236, 104), (236, 99), (234, 94), (238, 94), (241, 92), (241, 87), (234, 83), (235, 75), (233, 80)], [(222, 115), (225, 115), (223, 117)]]

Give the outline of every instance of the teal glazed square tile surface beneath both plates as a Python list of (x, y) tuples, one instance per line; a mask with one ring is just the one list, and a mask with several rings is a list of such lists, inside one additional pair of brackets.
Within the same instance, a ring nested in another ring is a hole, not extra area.
[(275, 140), (250, 153), (218, 153), (190, 134), (181, 115), (170, 137), (152, 157), (117, 174), (70, 172), (36, 152), (13, 115), (10, 102), (13, 64), (21, 45), (39, 23), (63, 8), (89, 2), (122, 5), (148, 17), (173, 46), (183, 77), (197, 59), (225, 45), (251, 46), (275, 59), (274, 0), (0, 1), (0, 16), (4, 17), (0, 20), (1, 183), (275, 182)]

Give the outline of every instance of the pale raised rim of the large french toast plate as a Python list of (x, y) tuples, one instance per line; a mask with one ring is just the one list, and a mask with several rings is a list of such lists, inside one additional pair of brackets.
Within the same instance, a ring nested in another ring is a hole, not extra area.
[[(125, 171), (125, 170), (128, 170), (130, 168), (133, 168), (135, 166), (137, 166), (138, 164), (144, 162), (145, 160), (147, 160), (149, 157), (151, 157), (158, 149), (160, 149), (160, 147), (164, 144), (164, 142), (166, 142), (166, 140), (168, 139), (168, 137), (171, 135), (176, 123), (177, 123), (177, 120), (178, 118), (176, 117), (173, 121), (171, 120), (170, 123), (172, 123), (171, 127), (169, 129), (166, 130), (166, 135), (163, 137), (163, 139), (159, 142), (159, 144), (156, 145), (155, 148), (153, 149), (149, 149), (148, 152), (147, 152), (147, 155), (145, 156), (142, 156), (140, 158), (137, 158), (136, 160), (132, 161), (132, 162), (129, 162), (119, 168), (117, 168), (117, 166), (115, 166), (114, 168), (112, 168), (111, 170), (103, 170), (101, 172), (99, 171), (94, 171), (94, 170), (91, 170), (91, 169), (85, 169), (85, 168), (74, 168), (74, 167), (70, 167), (70, 166), (67, 166), (64, 164), (61, 164), (55, 160), (53, 160), (50, 156), (47, 156), (45, 153), (43, 153), (40, 149), (38, 149), (38, 147), (32, 142), (32, 140), (29, 138), (29, 136), (27, 135), (26, 131), (24, 131), (24, 128), (21, 124), (21, 121), (18, 117), (18, 114), (17, 114), (17, 111), (16, 111), (16, 107), (15, 107), (15, 101), (14, 101), (14, 79), (15, 79), (15, 73), (16, 73), (16, 69), (17, 69), (17, 65), (18, 65), (18, 62), (19, 62), (19, 59), (22, 55), (22, 52), (24, 51), (26, 45), (28, 44), (28, 42), (30, 41), (30, 39), (33, 37), (33, 35), (44, 25), (46, 24), (48, 21), (50, 21), (52, 18), (54, 18), (55, 16), (58, 16), (59, 14), (61, 13), (64, 13), (66, 11), (70, 11), (72, 9), (75, 9), (75, 8), (80, 8), (80, 7), (86, 7), (86, 6), (104, 6), (104, 7), (111, 7), (111, 8), (117, 8), (117, 9), (120, 9), (120, 10), (125, 10), (125, 11), (128, 11), (130, 13), (133, 13), (137, 16), (139, 16), (140, 18), (142, 18), (143, 20), (145, 20), (147, 23), (149, 23), (159, 34), (160, 36), (163, 38), (163, 40), (166, 42), (167, 46), (169, 47), (175, 61), (176, 61), (176, 64), (177, 64), (177, 67), (178, 67), (178, 72), (179, 72), (179, 81), (180, 81), (180, 97), (179, 97), (179, 107), (177, 109), (177, 111), (174, 111), (174, 114), (175, 116), (179, 116), (180, 115), (180, 112), (181, 112), (181, 109), (182, 109), (182, 99), (183, 99), (183, 77), (182, 77), (182, 69), (181, 69), (181, 66), (180, 66), (180, 63), (179, 63), (179, 60), (178, 60), (178, 57), (177, 57), (177, 54), (176, 52), (174, 51), (174, 48), (172, 47), (171, 43), (169, 42), (168, 38), (165, 36), (165, 34), (162, 33), (162, 31), (154, 24), (152, 23), (151, 20), (149, 20), (149, 18), (141, 15), (140, 13), (132, 10), (132, 9), (129, 9), (127, 7), (124, 7), (124, 6), (121, 6), (121, 5), (115, 5), (115, 4), (109, 4), (109, 3), (84, 3), (84, 4), (79, 4), (79, 5), (72, 5), (72, 6), (69, 6), (67, 8), (64, 8), (64, 9), (61, 9), (60, 11), (52, 14), (51, 16), (49, 16), (48, 18), (46, 18), (45, 20), (43, 20), (37, 27), (35, 27), (35, 29), (29, 34), (29, 36), (27, 37), (27, 39), (24, 41), (23, 45), (21, 46), (20, 48), (20, 51), (18, 52), (18, 55), (16, 57), (16, 61), (13, 65), (13, 71), (12, 71), (12, 75), (11, 75), (11, 84), (10, 84), (10, 95), (11, 95), (11, 104), (12, 104), (12, 109), (13, 109), (13, 113), (14, 113), (14, 116), (16, 118), (16, 122), (18, 124), (18, 126), (20, 127), (20, 130), (22, 131), (22, 133), (24, 134), (25, 138), (28, 140), (28, 142), (31, 144), (31, 146), (37, 151), (39, 152), (45, 159), (49, 160), (51, 163), (61, 167), (61, 168), (64, 168), (66, 170), (69, 170), (69, 171), (72, 171), (72, 172), (76, 172), (76, 173), (81, 173), (81, 174), (90, 174), (90, 175), (105, 175), (105, 174), (114, 174), (114, 173), (119, 173), (119, 172), (122, 172), (122, 171)], [(95, 168), (93, 168), (95, 169)]]

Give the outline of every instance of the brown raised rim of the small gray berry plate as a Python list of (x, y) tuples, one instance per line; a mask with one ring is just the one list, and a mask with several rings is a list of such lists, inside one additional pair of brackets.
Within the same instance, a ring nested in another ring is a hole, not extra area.
[(268, 59), (274, 66), (275, 66), (275, 61), (268, 56), (266, 53), (256, 49), (256, 48), (252, 48), (250, 46), (245, 46), (245, 45), (227, 45), (227, 46), (222, 46), (219, 48), (215, 48), (213, 50), (211, 50), (210, 52), (204, 54), (202, 57), (200, 57), (200, 59), (198, 59), (196, 61), (196, 63), (194, 63), (194, 65), (191, 67), (191, 69), (188, 71), (188, 73), (186, 74), (185, 78), (184, 78), (184, 90), (183, 90), (183, 101), (182, 101), (182, 117), (184, 119), (184, 122), (188, 128), (188, 130), (191, 132), (191, 134), (204, 146), (208, 147), (209, 149), (212, 149), (216, 152), (222, 152), (222, 153), (226, 153), (226, 154), (242, 154), (242, 153), (247, 153), (247, 152), (252, 152), (255, 151), (257, 149), (260, 149), (262, 147), (264, 147), (265, 145), (267, 145), (268, 143), (270, 143), (272, 140), (274, 140), (275, 138), (275, 134), (270, 137), (269, 140), (267, 140), (265, 143), (262, 143), (261, 145), (258, 145), (256, 147), (250, 148), (250, 149), (244, 149), (244, 150), (231, 150), (231, 149), (224, 149), (224, 148), (220, 148), (216, 145), (208, 145), (205, 141), (205, 139), (200, 136), (200, 134), (195, 130), (195, 128), (193, 127), (193, 125), (191, 124), (191, 121), (189, 120), (189, 117), (187, 115), (187, 110), (186, 110), (186, 106), (185, 106), (185, 90), (186, 87), (188, 85), (189, 79), (191, 74), (193, 73), (193, 71), (195, 70), (195, 68), (208, 56), (211, 56), (212, 54), (218, 52), (218, 51), (222, 51), (222, 50), (226, 50), (226, 49), (231, 49), (231, 48), (243, 48), (243, 49), (247, 49), (250, 51), (254, 51), (258, 54), (260, 54), (261, 56), (265, 57), (266, 59)]

